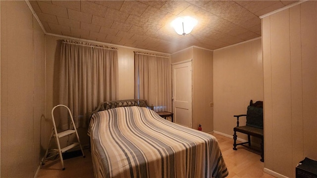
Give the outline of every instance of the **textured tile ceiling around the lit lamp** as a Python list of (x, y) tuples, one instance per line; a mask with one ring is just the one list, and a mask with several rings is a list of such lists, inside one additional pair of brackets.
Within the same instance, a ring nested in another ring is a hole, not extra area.
[[(195, 45), (207, 49), (261, 36), (259, 16), (297, 0), (30, 0), (47, 33), (174, 53)], [(178, 16), (198, 25), (179, 36)]]

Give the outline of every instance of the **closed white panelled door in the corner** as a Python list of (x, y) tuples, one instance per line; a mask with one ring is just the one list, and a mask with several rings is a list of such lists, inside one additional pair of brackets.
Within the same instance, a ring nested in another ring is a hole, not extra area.
[(192, 128), (192, 60), (172, 64), (174, 122)]

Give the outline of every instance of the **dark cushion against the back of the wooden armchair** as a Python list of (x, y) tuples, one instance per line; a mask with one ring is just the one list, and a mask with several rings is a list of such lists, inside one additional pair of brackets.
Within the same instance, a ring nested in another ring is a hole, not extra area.
[(247, 126), (263, 129), (263, 108), (248, 106)]

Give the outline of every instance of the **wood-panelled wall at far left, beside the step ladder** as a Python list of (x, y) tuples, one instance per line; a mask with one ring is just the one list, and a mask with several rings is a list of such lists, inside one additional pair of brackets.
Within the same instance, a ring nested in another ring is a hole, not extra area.
[(45, 35), (25, 1), (1, 3), (1, 178), (33, 178), (45, 115)]

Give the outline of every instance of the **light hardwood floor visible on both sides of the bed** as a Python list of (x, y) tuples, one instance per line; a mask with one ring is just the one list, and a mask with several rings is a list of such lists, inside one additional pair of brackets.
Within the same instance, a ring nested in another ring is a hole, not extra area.
[[(238, 146), (232, 149), (233, 139), (219, 134), (214, 135), (218, 142), (227, 165), (229, 176), (227, 178), (274, 178), (263, 172), (264, 163), (261, 156)], [(65, 170), (61, 170), (59, 159), (46, 163), (38, 173), (37, 178), (93, 178), (91, 153), (85, 149), (86, 158), (82, 156), (64, 160)]]

